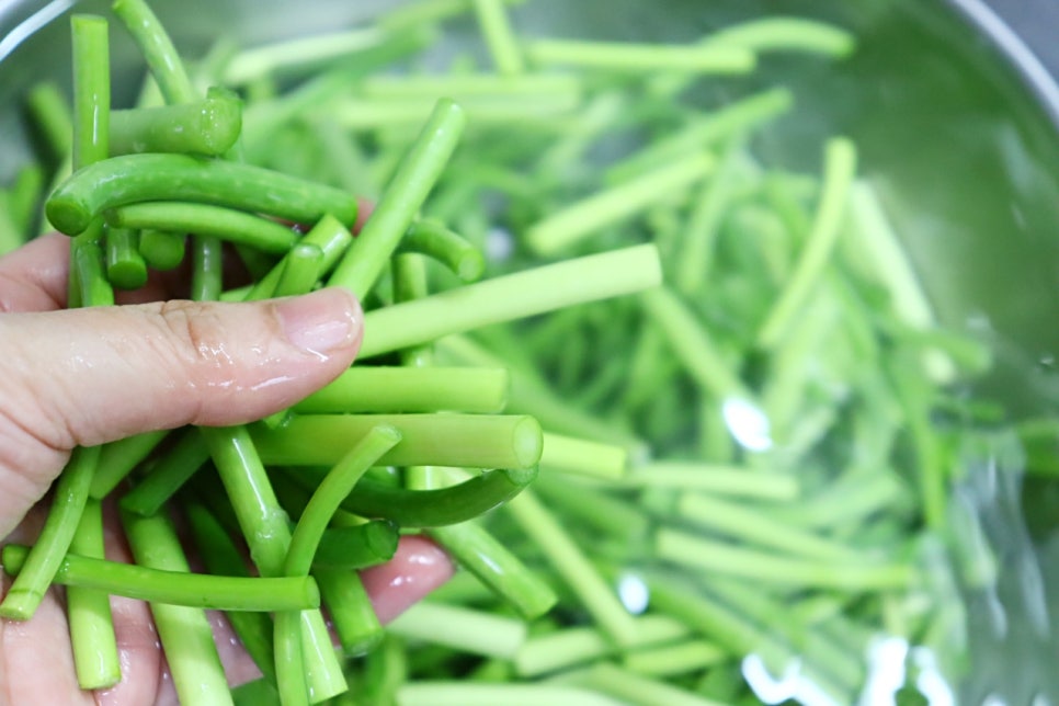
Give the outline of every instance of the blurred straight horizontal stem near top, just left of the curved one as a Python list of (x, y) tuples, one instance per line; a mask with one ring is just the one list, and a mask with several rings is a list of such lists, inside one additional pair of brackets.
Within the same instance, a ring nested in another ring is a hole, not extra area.
[(565, 65), (637, 73), (660, 69), (699, 73), (747, 73), (756, 65), (753, 53), (747, 49), (702, 45), (534, 39), (527, 44), (526, 54), (536, 65)]

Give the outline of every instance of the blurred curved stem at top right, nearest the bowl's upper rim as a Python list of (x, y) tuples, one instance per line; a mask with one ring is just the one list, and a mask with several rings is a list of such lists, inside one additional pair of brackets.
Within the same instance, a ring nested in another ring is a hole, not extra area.
[(807, 52), (842, 58), (856, 48), (856, 37), (833, 24), (807, 18), (764, 16), (714, 32), (707, 46), (751, 52)]

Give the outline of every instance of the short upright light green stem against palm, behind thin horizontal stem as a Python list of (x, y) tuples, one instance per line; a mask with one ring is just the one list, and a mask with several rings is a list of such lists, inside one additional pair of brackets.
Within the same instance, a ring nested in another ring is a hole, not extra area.
[[(70, 551), (92, 559), (102, 559), (103, 506), (89, 499), (81, 513)], [(8, 569), (8, 561), (3, 561)], [(56, 572), (60, 579), (64, 567)], [(67, 617), (70, 624), (70, 645), (77, 683), (83, 690), (107, 688), (122, 680), (122, 663), (117, 654), (114, 616), (105, 591), (68, 585), (66, 589)]]

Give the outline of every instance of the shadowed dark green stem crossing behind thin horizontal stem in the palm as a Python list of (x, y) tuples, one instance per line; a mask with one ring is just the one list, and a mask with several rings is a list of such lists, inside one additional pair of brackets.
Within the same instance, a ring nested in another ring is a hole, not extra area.
[[(231, 536), (205, 506), (187, 503), (184, 516), (195, 539), (195, 549), (206, 571), (216, 576), (249, 578), (243, 554)], [(323, 593), (322, 589), (320, 591)], [(239, 642), (253, 660), (261, 674), (275, 684), (275, 653), (272, 647), (272, 620), (267, 613), (229, 611), (225, 614)]]

